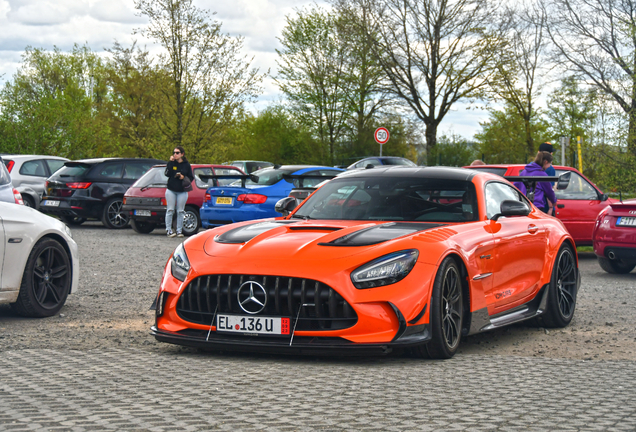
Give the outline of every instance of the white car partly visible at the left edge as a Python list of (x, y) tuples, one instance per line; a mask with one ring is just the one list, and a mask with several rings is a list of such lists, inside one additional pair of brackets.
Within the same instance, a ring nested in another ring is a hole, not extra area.
[(20, 315), (52, 316), (78, 282), (71, 230), (27, 206), (0, 202), (0, 303)]

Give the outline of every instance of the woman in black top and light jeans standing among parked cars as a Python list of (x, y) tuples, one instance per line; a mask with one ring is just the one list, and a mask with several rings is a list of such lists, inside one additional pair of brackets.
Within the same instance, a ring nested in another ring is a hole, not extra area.
[[(170, 162), (166, 166), (166, 177), (168, 177), (168, 188), (166, 189), (166, 231), (168, 237), (183, 237), (183, 217), (185, 216), (185, 204), (188, 201), (188, 192), (183, 189), (183, 179), (189, 178), (194, 181), (192, 167), (185, 157), (183, 147), (175, 147)], [(177, 211), (177, 232), (172, 231), (172, 217), (175, 209)]]

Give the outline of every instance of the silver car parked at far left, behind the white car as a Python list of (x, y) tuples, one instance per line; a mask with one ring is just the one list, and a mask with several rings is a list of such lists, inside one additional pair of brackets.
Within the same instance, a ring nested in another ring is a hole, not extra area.
[(36, 209), (40, 207), (46, 179), (68, 161), (63, 157), (38, 155), (3, 155), (2, 160), (24, 205)]

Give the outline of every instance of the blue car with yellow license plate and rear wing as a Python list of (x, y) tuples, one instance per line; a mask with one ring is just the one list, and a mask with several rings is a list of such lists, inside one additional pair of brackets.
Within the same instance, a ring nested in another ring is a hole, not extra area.
[[(274, 210), (292, 188), (300, 185), (293, 176), (309, 176), (302, 186), (311, 187), (332, 178), (343, 169), (314, 165), (283, 165), (254, 171), (249, 178), (228, 186), (209, 188), (199, 211), (204, 228), (282, 216)], [(292, 177), (290, 177), (292, 176)], [(321, 179), (324, 177), (324, 179)]]

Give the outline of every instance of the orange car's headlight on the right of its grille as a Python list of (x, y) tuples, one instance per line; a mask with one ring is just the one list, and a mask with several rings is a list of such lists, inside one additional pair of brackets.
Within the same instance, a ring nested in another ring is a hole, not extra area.
[(413, 270), (418, 256), (417, 249), (390, 253), (354, 270), (351, 281), (358, 289), (394, 284)]

